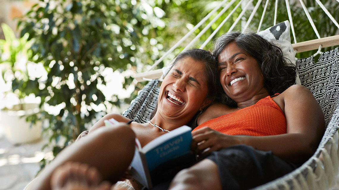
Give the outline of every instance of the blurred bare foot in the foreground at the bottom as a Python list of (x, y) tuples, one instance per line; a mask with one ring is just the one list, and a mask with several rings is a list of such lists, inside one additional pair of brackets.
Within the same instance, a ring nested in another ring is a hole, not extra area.
[(51, 177), (52, 190), (109, 190), (111, 184), (102, 182), (98, 170), (86, 164), (66, 163), (58, 167)]

